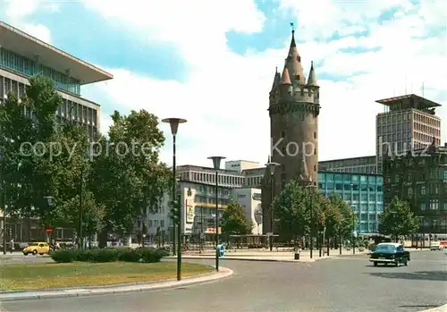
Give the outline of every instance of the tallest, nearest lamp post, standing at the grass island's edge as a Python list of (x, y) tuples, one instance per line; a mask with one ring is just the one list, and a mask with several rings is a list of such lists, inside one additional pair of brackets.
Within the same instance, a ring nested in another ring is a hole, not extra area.
[[(164, 118), (162, 122), (169, 123), (171, 126), (171, 134), (173, 135), (173, 253), (175, 255), (175, 220), (178, 223), (177, 229), (177, 281), (181, 280), (181, 209), (180, 202), (177, 198), (177, 173), (175, 172), (175, 137), (179, 130), (179, 124), (185, 123), (185, 119), (181, 118)], [(175, 216), (176, 215), (176, 216)]]

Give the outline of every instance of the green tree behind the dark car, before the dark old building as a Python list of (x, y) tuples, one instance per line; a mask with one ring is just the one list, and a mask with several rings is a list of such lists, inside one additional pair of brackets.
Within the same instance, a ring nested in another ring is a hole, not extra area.
[(398, 197), (392, 198), (392, 202), (384, 209), (379, 219), (379, 232), (392, 235), (395, 241), (399, 235), (412, 235), (417, 233), (418, 218), (409, 207), (409, 203)]

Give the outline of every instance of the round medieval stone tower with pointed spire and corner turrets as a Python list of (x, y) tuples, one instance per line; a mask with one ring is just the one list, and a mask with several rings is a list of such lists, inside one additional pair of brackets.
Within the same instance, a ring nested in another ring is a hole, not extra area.
[(320, 88), (316, 83), (313, 62), (310, 62), (306, 80), (294, 32), (291, 31), (291, 46), (283, 73), (276, 70), (270, 91), (270, 161), (280, 165), (274, 169), (273, 180), (268, 168), (264, 178), (262, 206), (265, 233), (274, 232), (274, 222), (271, 222), (274, 216), (270, 208), (272, 196), (279, 194), (288, 181), (293, 179), (307, 184), (311, 181), (318, 185)]

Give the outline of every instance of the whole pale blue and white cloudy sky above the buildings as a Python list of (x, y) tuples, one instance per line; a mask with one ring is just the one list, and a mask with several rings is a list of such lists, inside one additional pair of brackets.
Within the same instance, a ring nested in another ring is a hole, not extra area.
[[(266, 163), (268, 94), (291, 22), (306, 76), (313, 61), (321, 87), (320, 160), (375, 155), (377, 99), (415, 93), (447, 105), (444, 0), (3, 0), (0, 20), (114, 75), (81, 87), (101, 105), (103, 133), (114, 110), (188, 120), (177, 164)], [(172, 164), (169, 126), (160, 128)]]

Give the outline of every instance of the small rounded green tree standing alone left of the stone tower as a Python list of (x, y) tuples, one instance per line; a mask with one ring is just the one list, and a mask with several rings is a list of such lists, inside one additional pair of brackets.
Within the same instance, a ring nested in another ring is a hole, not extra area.
[(234, 200), (223, 211), (220, 225), (223, 235), (227, 238), (230, 235), (248, 235), (253, 229), (253, 223), (247, 218), (244, 207)]

